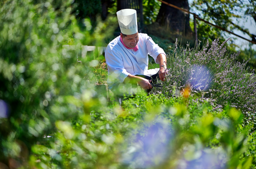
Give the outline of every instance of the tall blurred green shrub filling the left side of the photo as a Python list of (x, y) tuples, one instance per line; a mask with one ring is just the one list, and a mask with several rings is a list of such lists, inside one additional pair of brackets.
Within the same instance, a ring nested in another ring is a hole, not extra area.
[[(56, 121), (78, 114), (87, 120), (99, 103), (96, 95), (89, 107), (85, 102), (84, 109), (75, 106), (80, 104), (78, 94), (84, 93), (85, 100), (94, 95), (86, 92), (90, 83), (84, 78), (93, 58), (81, 58), (80, 63), (76, 54), (81, 45), (101, 45), (113, 22), (110, 18), (92, 28), (85, 20), (86, 29), (80, 31), (71, 14), (72, 2), (14, 0), (0, 9), (1, 162), (14, 160), (26, 166), (31, 148), (57, 131)], [(63, 54), (66, 42), (76, 51)], [(28, 151), (24, 156), (22, 148)]]

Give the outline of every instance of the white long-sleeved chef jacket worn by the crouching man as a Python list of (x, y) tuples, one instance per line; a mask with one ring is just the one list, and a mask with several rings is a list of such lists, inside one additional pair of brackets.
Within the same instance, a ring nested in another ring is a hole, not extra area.
[(136, 52), (133, 49), (127, 49), (120, 41), (120, 36), (116, 37), (108, 44), (105, 51), (105, 59), (108, 68), (107, 83), (111, 91), (114, 92), (119, 87), (121, 88), (119, 90), (122, 95), (128, 88), (131, 88), (131, 86), (129, 87), (131, 84), (123, 84), (129, 74), (144, 74), (150, 76), (158, 72), (159, 69), (148, 70), (148, 54), (159, 64), (156, 57), (160, 53), (165, 54), (163, 49), (155, 44), (152, 38), (145, 33), (139, 33), (137, 45), (139, 49)]

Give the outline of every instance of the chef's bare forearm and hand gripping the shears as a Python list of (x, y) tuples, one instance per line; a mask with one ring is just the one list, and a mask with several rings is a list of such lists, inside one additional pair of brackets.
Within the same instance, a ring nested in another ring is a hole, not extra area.
[(124, 80), (124, 83), (138, 83), (140, 87), (145, 90), (152, 89), (152, 85), (150, 84), (150, 82), (152, 82), (152, 80), (149, 81), (148, 79), (145, 79), (143, 77), (134, 76), (131, 74), (129, 74)]

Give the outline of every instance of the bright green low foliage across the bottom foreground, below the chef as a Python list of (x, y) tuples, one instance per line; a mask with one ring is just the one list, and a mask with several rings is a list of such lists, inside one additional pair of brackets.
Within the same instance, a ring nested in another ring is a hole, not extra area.
[[(76, 102), (70, 103), (77, 108), (82, 106)], [(161, 153), (157, 155), (162, 159), (157, 159), (154, 154), (148, 154), (157, 144), (143, 150), (150, 158), (151, 168), (178, 167), (176, 161), (181, 159), (190, 166), (190, 163), (198, 163), (207, 155), (223, 155), (230, 158), (228, 163), (213, 161), (214, 166), (222, 164), (233, 168), (244, 166), (243, 161), (250, 165), (251, 158), (239, 160), (239, 155), (246, 151), (246, 135), (241, 131), (236, 134), (232, 120), (226, 119), (225, 111), (216, 109), (213, 101), (195, 97), (167, 99), (164, 95), (146, 96), (145, 93), (141, 93), (133, 99), (126, 100), (123, 109), (118, 105), (98, 107), (100, 109), (91, 111), (89, 122), (84, 120), (82, 114), (69, 121), (57, 121), (56, 127), (59, 132), (44, 138), (47, 140), (44, 143), (32, 146), (33, 156), (30, 164), (37, 168), (129, 168), (139, 164), (136, 161), (126, 161), (123, 157), (127, 157), (126, 153), (128, 157), (133, 157), (137, 152), (141, 152), (141, 145), (138, 144), (140, 141), (144, 142), (144, 138), (150, 138), (148, 136), (151, 134), (156, 135), (156, 139), (160, 139), (158, 135), (171, 134), (171, 139), (166, 138), (167, 145), (164, 147), (170, 152), (164, 156)], [(239, 112), (238, 116), (241, 116)], [(227, 125), (230, 127), (227, 128)], [(158, 128), (156, 133), (150, 130), (152, 126)], [(171, 128), (168, 129), (166, 126)], [(164, 144), (166, 141), (161, 142)], [(135, 145), (137, 146), (134, 147)], [(131, 148), (133, 151), (129, 153)], [(207, 150), (209, 148), (214, 148), (215, 151)], [(195, 154), (202, 155), (195, 158)], [(143, 158), (140, 159), (146, 164)], [(209, 167), (209, 164), (199, 164)]]

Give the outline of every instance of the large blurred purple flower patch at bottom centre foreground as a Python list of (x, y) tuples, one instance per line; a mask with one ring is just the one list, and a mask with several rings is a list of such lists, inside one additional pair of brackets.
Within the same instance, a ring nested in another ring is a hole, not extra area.
[(122, 157), (122, 161), (131, 168), (153, 167), (163, 162), (170, 153), (169, 142), (172, 135), (168, 122), (158, 119), (142, 131), (146, 133), (145, 136), (138, 134)]

